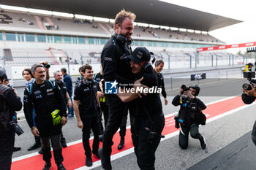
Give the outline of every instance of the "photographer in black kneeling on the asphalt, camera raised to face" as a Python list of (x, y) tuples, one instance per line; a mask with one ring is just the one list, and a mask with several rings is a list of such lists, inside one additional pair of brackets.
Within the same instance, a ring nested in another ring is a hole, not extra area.
[(189, 131), (192, 138), (199, 139), (202, 149), (206, 149), (206, 140), (199, 133), (199, 125), (206, 123), (206, 117), (201, 112), (201, 110), (206, 109), (206, 105), (196, 97), (199, 92), (200, 87), (198, 85), (192, 85), (189, 88), (182, 85), (179, 94), (173, 98), (172, 104), (176, 107), (181, 106), (175, 119), (176, 128), (181, 126), (178, 144), (184, 150), (188, 147)]

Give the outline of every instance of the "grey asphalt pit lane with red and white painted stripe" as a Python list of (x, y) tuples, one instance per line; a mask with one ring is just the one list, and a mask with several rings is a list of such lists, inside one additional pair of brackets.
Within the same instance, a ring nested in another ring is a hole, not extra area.
[[(170, 103), (176, 93), (168, 94), (168, 104), (163, 107), (165, 114), (165, 138), (156, 152), (156, 169), (255, 169), (256, 161), (249, 132), (256, 120), (255, 104), (245, 105), (241, 101), (241, 85), (246, 80), (233, 80), (206, 85), (201, 88), (199, 98), (207, 104), (204, 111), (207, 123), (200, 126), (200, 133), (206, 138), (207, 148), (202, 150), (197, 139), (189, 137), (189, 147), (178, 147), (178, 131), (174, 128), (173, 113), (178, 107)], [(236, 97), (237, 96), (237, 97)], [(15, 146), (22, 150), (12, 155), (12, 169), (42, 169), (42, 155), (27, 151), (34, 143), (26, 121), (19, 125), (25, 133), (16, 136)], [(63, 149), (64, 166), (67, 169), (89, 169), (85, 165), (85, 155), (81, 144), (82, 132), (75, 119), (69, 119), (63, 128), (68, 147)], [(113, 139), (113, 169), (139, 169), (130, 139), (129, 120), (123, 150), (118, 151), (118, 134)], [(101, 146), (101, 145), (100, 145)], [(102, 169), (100, 161), (93, 156), (94, 165), (90, 169)], [(52, 158), (53, 168), (56, 169)], [(235, 163), (235, 164), (234, 164)], [(235, 166), (236, 165), (236, 166)]]

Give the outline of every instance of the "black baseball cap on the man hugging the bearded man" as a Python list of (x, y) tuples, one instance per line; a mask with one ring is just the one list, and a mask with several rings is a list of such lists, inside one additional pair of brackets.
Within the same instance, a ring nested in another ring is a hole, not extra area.
[(127, 56), (127, 58), (131, 59), (135, 63), (141, 63), (143, 61), (150, 61), (151, 53), (146, 49), (146, 47), (137, 47), (131, 55)]

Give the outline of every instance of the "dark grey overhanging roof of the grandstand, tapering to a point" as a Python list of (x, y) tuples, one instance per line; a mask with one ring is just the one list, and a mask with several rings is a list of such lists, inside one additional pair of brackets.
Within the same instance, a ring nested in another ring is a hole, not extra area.
[(0, 0), (0, 3), (102, 18), (115, 18), (124, 8), (135, 12), (136, 22), (200, 31), (213, 31), (242, 22), (158, 0)]

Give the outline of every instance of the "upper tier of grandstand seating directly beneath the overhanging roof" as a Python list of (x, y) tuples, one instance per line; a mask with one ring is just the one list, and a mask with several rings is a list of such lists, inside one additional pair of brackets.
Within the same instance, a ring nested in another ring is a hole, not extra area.
[[(29, 12), (1, 12), (0, 26), (23, 28), (48, 28), (56, 31), (73, 31), (92, 34), (112, 34), (112, 23), (92, 22), (72, 18), (56, 18), (30, 14)], [(39, 19), (38, 19), (39, 18)], [(1, 22), (1, 19), (8, 22)], [(195, 34), (183, 31), (170, 31), (160, 28), (145, 28), (135, 26), (134, 36), (149, 37), (151, 39), (180, 39), (187, 41), (221, 42), (219, 39), (206, 34)]]

